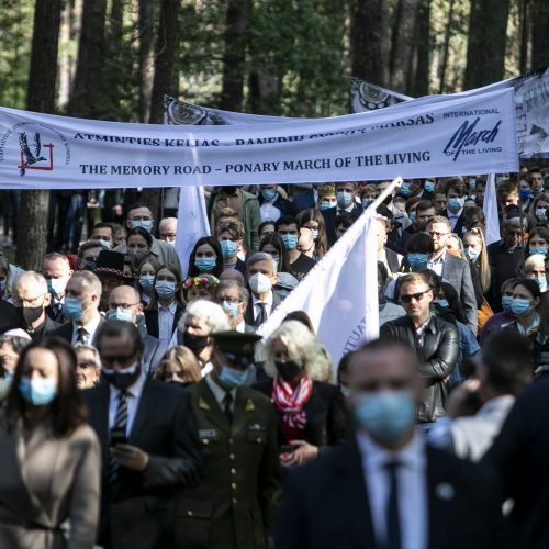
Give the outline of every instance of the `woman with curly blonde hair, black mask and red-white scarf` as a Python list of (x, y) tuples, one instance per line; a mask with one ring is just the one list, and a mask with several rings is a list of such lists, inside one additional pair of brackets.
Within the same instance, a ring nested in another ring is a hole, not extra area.
[(267, 339), (265, 371), (273, 379), (255, 389), (274, 403), (282, 467), (312, 461), (324, 448), (346, 440), (341, 393), (326, 382), (333, 378), (332, 362), (302, 323), (284, 322)]

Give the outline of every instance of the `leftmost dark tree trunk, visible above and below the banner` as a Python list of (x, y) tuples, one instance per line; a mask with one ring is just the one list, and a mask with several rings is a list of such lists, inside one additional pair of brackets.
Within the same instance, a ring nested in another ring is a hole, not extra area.
[[(57, 47), (61, 0), (36, 0), (26, 87), (26, 108), (51, 113), (55, 109)], [(49, 191), (26, 191), (21, 199), (15, 260), (24, 269), (38, 270), (47, 244)]]

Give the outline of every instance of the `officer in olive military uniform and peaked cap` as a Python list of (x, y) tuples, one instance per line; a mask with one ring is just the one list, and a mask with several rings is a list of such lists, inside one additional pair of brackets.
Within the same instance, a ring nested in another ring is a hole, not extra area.
[(212, 334), (213, 371), (188, 389), (203, 450), (203, 480), (177, 504), (176, 547), (261, 549), (280, 497), (274, 410), (245, 386), (254, 334)]

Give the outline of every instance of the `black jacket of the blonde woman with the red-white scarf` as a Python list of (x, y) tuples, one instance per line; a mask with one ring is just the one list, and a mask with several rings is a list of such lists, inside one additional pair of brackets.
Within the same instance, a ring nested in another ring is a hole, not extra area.
[[(259, 392), (269, 399), (272, 393), (272, 379), (255, 385)], [(329, 383), (313, 381), (313, 393), (303, 406), (306, 414), (306, 425), (303, 429), (302, 440), (318, 448), (335, 446), (348, 440), (348, 418), (345, 413), (341, 391)], [(289, 441), (281, 432), (282, 413), (277, 411), (278, 440), (280, 445)]]

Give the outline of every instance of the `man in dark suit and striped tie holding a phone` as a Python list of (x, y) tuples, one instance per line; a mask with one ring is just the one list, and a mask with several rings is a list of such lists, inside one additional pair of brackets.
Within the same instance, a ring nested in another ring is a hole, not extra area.
[(142, 371), (143, 344), (132, 323), (105, 322), (97, 346), (102, 381), (82, 394), (102, 448), (98, 542), (172, 547), (176, 492), (199, 480), (201, 466), (190, 399)]

